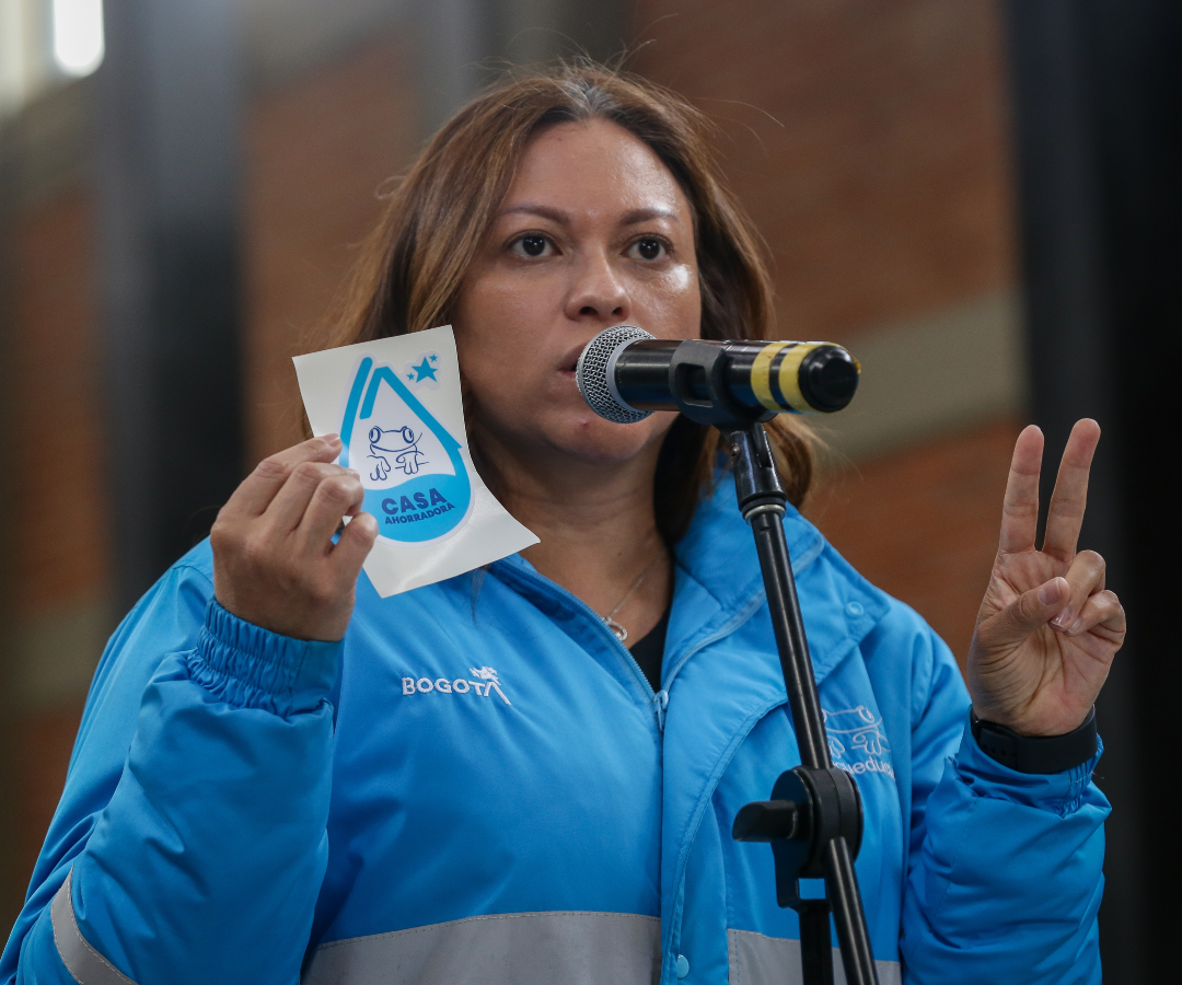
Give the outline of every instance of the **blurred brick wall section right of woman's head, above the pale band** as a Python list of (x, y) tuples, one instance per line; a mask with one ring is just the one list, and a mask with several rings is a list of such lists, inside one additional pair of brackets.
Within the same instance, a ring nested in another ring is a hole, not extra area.
[(999, 11), (641, 0), (636, 60), (720, 122), (780, 325), (845, 341), (1013, 280)]

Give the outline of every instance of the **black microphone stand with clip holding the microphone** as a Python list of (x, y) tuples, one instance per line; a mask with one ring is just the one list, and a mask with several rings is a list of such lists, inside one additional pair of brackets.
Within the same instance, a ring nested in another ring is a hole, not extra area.
[[(862, 847), (862, 797), (853, 778), (837, 769), (829, 754), (820, 695), (784, 537), (788, 498), (764, 430), (764, 421), (772, 414), (735, 398), (728, 368), (725, 345), (682, 342), (669, 365), (669, 390), (682, 414), (716, 427), (729, 446), (739, 510), (755, 537), (792, 727), (800, 747), (800, 765), (780, 775), (771, 801), (747, 804), (739, 811), (732, 836), (772, 845), (777, 902), (791, 907), (800, 918), (804, 985), (833, 985), (831, 909), (847, 985), (878, 985), (853, 870)], [(801, 899), (800, 879), (824, 879), (825, 896)]]

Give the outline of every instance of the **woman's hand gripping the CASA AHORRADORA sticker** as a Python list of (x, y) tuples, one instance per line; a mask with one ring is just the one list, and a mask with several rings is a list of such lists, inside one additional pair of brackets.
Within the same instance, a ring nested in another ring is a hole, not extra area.
[(359, 512), (358, 474), (330, 465), (339, 452), (331, 435), (264, 459), (217, 514), (214, 594), (239, 618), (300, 640), (345, 635), (377, 520)]

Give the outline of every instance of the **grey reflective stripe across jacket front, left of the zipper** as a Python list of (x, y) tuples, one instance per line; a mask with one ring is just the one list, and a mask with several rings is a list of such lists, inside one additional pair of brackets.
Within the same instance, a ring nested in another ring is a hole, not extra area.
[[(316, 950), (304, 985), (651, 985), (661, 920), (505, 913), (350, 938)], [(87, 983), (89, 985), (89, 983)]]

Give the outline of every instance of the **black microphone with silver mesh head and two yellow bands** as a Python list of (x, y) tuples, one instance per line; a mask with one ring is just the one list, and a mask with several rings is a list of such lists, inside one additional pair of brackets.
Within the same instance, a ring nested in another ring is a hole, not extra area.
[(862, 368), (830, 342), (658, 339), (635, 325), (604, 329), (579, 355), (587, 406), (617, 423), (654, 410), (743, 427), (775, 414), (832, 414), (849, 406)]

